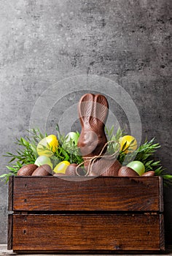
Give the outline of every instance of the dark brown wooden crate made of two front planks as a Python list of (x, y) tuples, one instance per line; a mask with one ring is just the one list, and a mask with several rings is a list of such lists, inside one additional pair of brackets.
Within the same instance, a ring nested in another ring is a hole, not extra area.
[(8, 249), (16, 252), (163, 251), (160, 177), (9, 179)]

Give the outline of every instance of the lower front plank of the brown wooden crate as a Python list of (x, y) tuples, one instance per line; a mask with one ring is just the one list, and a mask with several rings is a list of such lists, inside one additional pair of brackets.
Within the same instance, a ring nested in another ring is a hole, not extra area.
[(14, 215), (15, 251), (157, 251), (158, 214)]

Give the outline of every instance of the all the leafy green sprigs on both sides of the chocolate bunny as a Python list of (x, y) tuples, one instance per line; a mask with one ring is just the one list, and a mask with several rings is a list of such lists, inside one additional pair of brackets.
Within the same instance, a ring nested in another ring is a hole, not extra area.
[[(80, 164), (83, 162), (82, 156), (79, 154), (79, 148), (75, 145), (72, 139), (66, 138), (64, 135), (61, 135), (58, 124), (56, 126), (57, 138), (58, 138), (58, 148), (53, 152), (52, 157), (50, 157), (52, 161), (53, 167), (58, 165), (61, 161), (69, 161), (70, 163)], [(15, 154), (7, 152), (4, 157), (9, 158), (9, 165), (7, 165), (7, 169), (9, 173), (4, 173), (0, 176), (6, 180), (9, 180), (9, 176), (17, 175), (17, 171), (23, 166), (28, 164), (34, 164), (36, 158), (38, 157), (36, 146), (40, 140), (47, 137), (47, 133), (44, 135), (40, 132), (39, 129), (31, 129), (29, 132), (29, 137), (16, 139), (15, 144), (17, 145), (17, 149)], [(119, 151), (120, 146), (120, 138), (125, 135), (122, 130), (119, 128), (114, 134), (114, 126), (111, 129), (105, 127), (106, 137), (108, 141), (112, 141), (107, 146), (107, 152), (109, 154), (114, 154), (114, 152)], [(155, 161), (155, 152), (158, 148), (160, 148), (159, 143), (155, 143), (155, 138), (152, 140), (145, 140), (145, 142), (139, 146), (136, 151), (132, 150), (134, 140), (131, 141), (128, 148), (125, 148), (126, 143), (123, 145), (117, 159), (122, 163), (127, 165), (129, 162), (133, 160), (138, 160), (143, 162), (145, 166), (145, 171), (154, 170), (156, 176), (162, 176), (165, 184), (172, 184), (172, 175), (165, 173), (160, 161)], [(48, 145), (47, 145), (48, 146)], [(131, 150), (130, 150), (131, 148)], [(47, 149), (44, 146), (44, 149)], [(48, 148), (52, 151), (52, 148)], [(126, 150), (128, 150), (128, 154), (125, 154)]]

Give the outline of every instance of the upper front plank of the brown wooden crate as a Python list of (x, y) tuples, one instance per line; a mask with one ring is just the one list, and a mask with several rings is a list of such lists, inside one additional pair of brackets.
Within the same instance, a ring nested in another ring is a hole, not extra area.
[(160, 211), (158, 177), (14, 177), (14, 211)]

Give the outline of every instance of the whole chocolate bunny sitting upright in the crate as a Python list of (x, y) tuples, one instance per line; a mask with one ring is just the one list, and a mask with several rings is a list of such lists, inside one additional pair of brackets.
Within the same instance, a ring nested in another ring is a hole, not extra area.
[[(106, 97), (101, 94), (85, 94), (79, 101), (78, 110), (82, 132), (77, 146), (87, 170), (88, 159), (106, 152), (106, 147), (103, 150), (107, 143), (104, 125), (109, 113), (109, 104)], [(93, 162), (89, 176), (117, 176), (120, 167), (121, 164), (117, 160), (101, 157)]]

